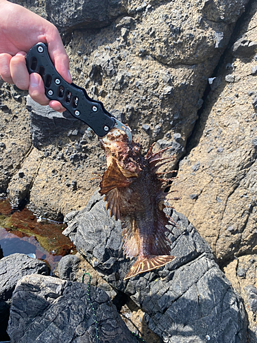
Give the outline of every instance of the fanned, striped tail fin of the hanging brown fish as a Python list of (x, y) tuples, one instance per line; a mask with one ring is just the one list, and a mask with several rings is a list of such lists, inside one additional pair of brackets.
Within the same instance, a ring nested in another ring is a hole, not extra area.
[(125, 276), (124, 280), (130, 279), (132, 276), (162, 267), (162, 265), (173, 261), (173, 259), (175, 259), (175, 256), (170, 255), (148, 255), (145, 257), (138, 257), (134, 265), (132, 265), (132, 268), (130, 268), (130, 271)]

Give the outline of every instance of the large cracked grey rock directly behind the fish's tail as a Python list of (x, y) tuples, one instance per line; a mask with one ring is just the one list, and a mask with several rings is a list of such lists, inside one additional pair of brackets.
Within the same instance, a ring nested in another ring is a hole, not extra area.
[[(149, 328), (164, 342), (247, 342), (241, 298), (215, 263), (209, 246), (184, 215), (173, 211), (172, 255), (164, 268), (123, 277), (134, 261), (123, 257), (121, 222), (108, 215), (95, 194), (85, 209), (69, 216), (64, 230), (103, 279), (125, 292), (147, 313)], [(73, 217), (73, 218), (72, 218)]]

